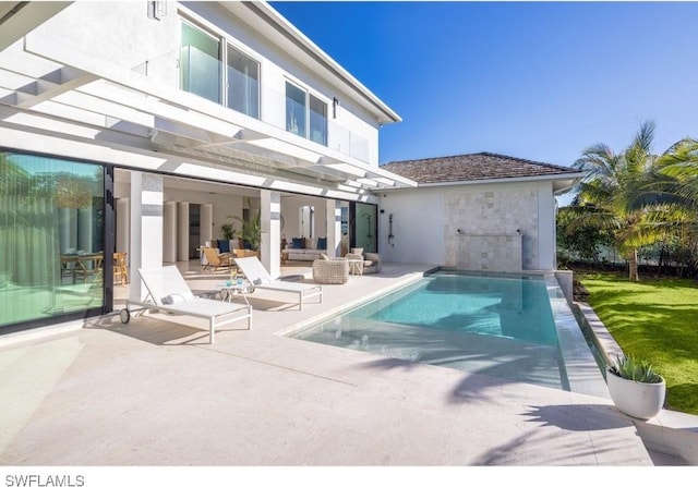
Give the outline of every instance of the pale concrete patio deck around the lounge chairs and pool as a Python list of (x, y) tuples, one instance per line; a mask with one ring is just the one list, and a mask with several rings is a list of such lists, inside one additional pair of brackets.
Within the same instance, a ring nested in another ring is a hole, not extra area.
[[(255, 293), (252, 330), (224, 328), (214, 345), (205, 322), (157, 314), (0, 337), (0, 464), (655, 462), (607, 399), (275, 334), (426, 268), (384, 265), (303, 311)], [(225, 279), (183, 273), (195, 290)]]

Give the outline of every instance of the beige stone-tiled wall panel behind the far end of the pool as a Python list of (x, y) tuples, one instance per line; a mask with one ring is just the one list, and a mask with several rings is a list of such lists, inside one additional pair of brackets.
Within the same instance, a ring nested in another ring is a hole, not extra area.
[(504, 272), (538, 269), (538, 190), (448, 192), (444, 221), (446, 266)]

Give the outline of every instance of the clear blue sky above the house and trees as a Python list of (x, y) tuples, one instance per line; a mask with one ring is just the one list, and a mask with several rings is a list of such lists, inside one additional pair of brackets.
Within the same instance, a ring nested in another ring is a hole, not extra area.
[(570, 166), (698, 137), (698, 2), (272, 2), (397, 111), (380, 162), (477, 151)]

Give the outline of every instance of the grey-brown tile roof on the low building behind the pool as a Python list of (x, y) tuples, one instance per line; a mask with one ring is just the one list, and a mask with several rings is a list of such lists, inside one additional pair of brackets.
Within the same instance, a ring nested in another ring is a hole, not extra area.
[(574, 168), (492, 153), (388, 162), (382, 169), (420, 184), (578, 174)]

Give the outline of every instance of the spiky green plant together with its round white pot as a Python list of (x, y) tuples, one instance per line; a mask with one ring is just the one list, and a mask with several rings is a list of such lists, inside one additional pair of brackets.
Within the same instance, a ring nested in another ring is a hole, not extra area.
[(639, 419), (650, 419), (664, 405), (666, 381), (645, 361), (619, 355), (606, 368), (611, 399), (623, 413)]

